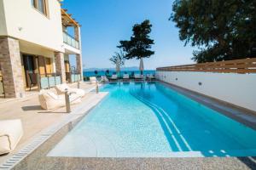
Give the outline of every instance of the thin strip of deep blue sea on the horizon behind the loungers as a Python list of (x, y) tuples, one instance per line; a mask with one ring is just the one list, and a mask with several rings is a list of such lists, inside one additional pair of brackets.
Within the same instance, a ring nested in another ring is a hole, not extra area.
[[(123, 74), (129, 74), (131, 75), (132, 72), (134, 74), (140, 74), (141, 71), (120, 71), (120, 76), (122, 77)], [(113, 75), (113, 73), (116, 73), (116, 71), (109, 71), (109, 76)], [(155, 75), (155, 70), (145, 70), (143, 71), (143, 75), (147, 75), (147, 74), (152, 74)], [(100, 76), (105, 76), (106, 75), (106, 71), (98, 71), (97, 75), (95, 74), (95, 71), (84, 71), (84, 77), (100, 77)]]

